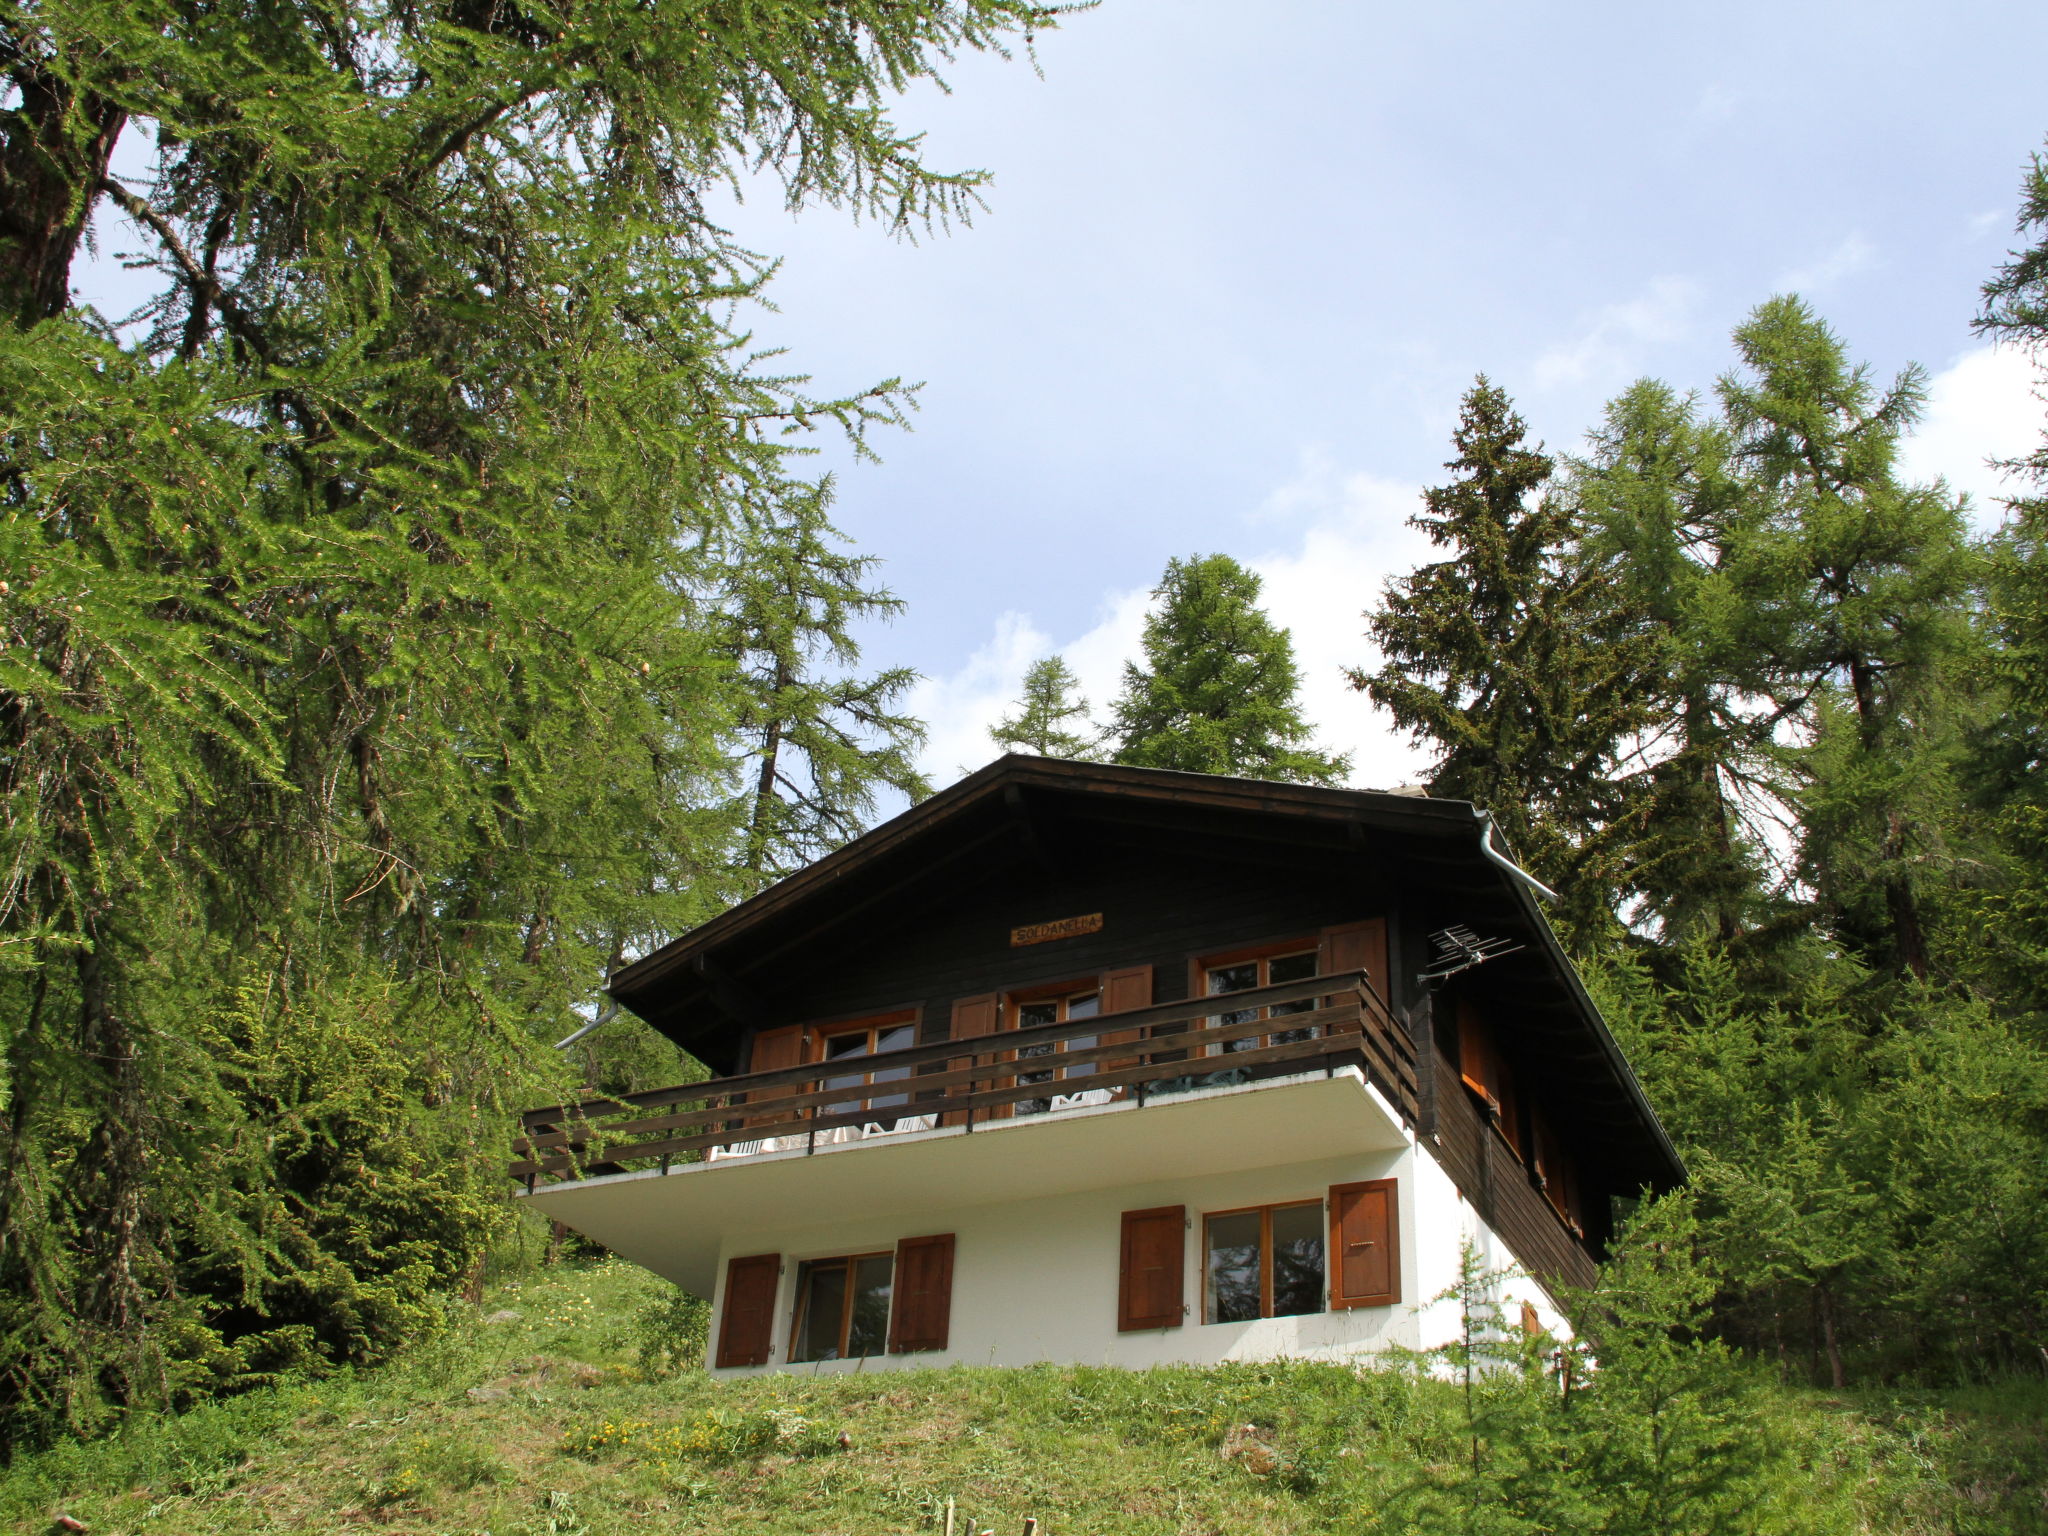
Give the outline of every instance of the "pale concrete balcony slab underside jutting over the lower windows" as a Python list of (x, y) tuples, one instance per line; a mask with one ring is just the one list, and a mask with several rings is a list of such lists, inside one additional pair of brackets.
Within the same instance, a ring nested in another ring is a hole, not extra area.
[(1278, 1167), (1409, 1141), (1356, 1067), (819, 1147), (545, 1184), (535, 1210), (709, 1296), (727, 1239), (848, 1214), (913, 1217), (1165, 1178)]

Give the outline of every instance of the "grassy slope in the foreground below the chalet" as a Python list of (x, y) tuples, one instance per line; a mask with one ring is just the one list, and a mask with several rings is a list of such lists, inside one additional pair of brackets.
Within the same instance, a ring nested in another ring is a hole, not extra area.
[[(653, 1282), (563, 1266), (379, 1372), (252, 1393), (18, 1462), (0, 1524), (43, 1532), (1378, 1530), (1386, 1493), (1462, 1452), (1456, 1393), (1327, 1366), (944, 1370), (643, 1380)], [(481, 1389), (477, 1401), (471, 1389)], [(1810, 1487), (1898, 1536), (2042, 1532), (2040, 1391), (1864, 1403), (1786, 1395)], [(1264, 1425), (1251, 1454), (1233, 1425)], [(838, 1446), (840, 1432), (850, 1440)]]

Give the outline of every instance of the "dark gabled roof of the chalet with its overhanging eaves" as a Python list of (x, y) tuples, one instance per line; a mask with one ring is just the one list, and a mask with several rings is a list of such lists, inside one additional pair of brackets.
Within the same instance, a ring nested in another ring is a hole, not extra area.
[(1067, 817), (1186, 827), (1204, 840), (1278, 846), (1303, 858), (1395, 850), (1425, 870), (1434, 889), (1452, 893), (1460, 911), (1524, 944), (1475, 975), (1511, 999), (1518, 1028), (1546, 1061), (1554, 1057), (1552, 1075), (1569, 1075), (1581, 1100), (1575, 1108), (1606, 1124), (1604, 1141), (1628, 1178), (1655, 1186), (1683, 1178), (1532, 881), (1483, 848), (1485, 815), (1466, 801), (1006, 756), (625, 967), (610, 995), (725, 1065), (705, 1020), (754, 1014), (750, 975), (772, 977), (819, 928), (872, 913), (993, 844), (1032, 842), (1034, 825)]

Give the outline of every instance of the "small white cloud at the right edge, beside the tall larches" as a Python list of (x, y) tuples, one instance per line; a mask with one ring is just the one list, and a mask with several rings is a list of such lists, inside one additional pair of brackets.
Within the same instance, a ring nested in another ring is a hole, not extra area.
[(1960, 354), (1927, 389), (1927, 416), (1905, 440), (1901, 467), (1909, 479), (1942, 475), (1968, 492), (1980, 528), (2003, 516), (2001, 496), (2021, 485), (1995, 459), (2019, 459), (2040, 446), (2048, 406), (2038, 389), (2040, 369), (2015, 346), (1978, 346)]

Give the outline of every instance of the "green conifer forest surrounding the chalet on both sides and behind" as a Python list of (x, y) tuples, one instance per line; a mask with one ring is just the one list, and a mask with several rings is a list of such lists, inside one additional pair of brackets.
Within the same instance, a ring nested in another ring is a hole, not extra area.
[[(926, 788), (909, 672), (858, 666), (897, 600), (797, 457), (909, 395), (762, 356), (770, 264), (707, 207), (944, 229), (979, 178), (887, 102), (1061, 16), (692, 18), (6, 23), (10, 1444), (375, 1362), (530, 1262), (508, 1110), (690, 1067), (604, 975)], [(74, 301), (102, 205), (152, 242), (133, 317)], [(2036, 346), (2040, 166), (2021, 225), (1982, 324)], [(1794, 297), (1579, 457), (1475, 383), (1438, 559), (1358, 621), (1432, 788), (1565, 893), (1696, 1176), (1706, 1327), (1837, 1384), (2048, 1358), (2048, 510), (1985, 539), (1913, 479), (1923, 391)], [(1014, 739), (1341, 772), (1255, 578), (1157, 598), (1102, 727), (1047, 672), (1071, 739), (1030, 700)]]

